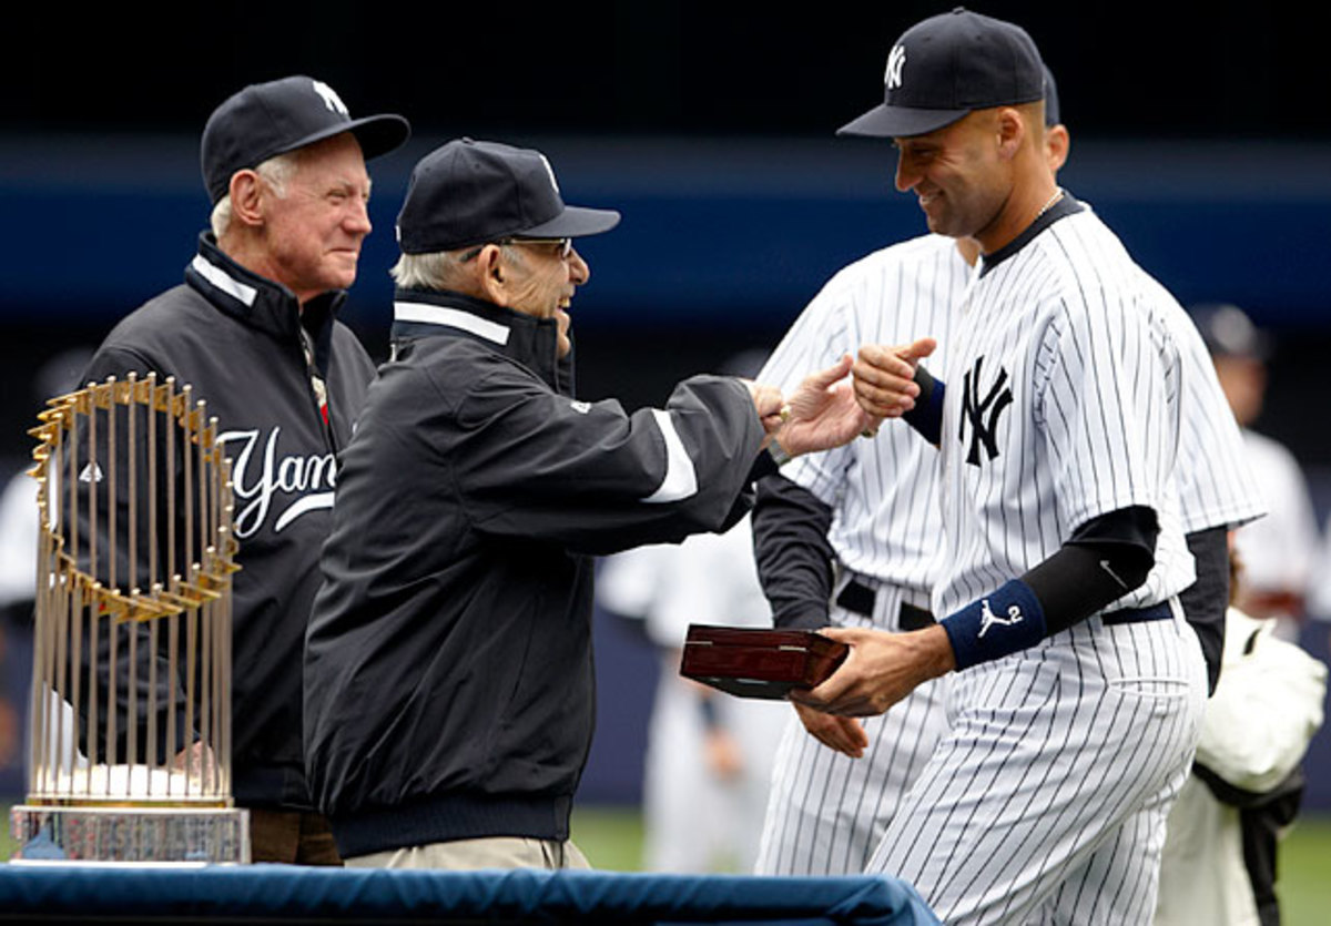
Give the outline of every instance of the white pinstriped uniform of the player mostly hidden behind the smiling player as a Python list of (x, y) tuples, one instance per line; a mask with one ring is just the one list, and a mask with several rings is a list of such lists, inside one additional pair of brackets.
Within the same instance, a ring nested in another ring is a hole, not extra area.
[[(925, 235), (882, 249), (837, 274), (801, 314), (760, 377), (789, 390), (811, 370), (862, 343), (936, 337), (926, 361), (945, 369), (953, 319), (972, 270), (956, 242)], [(1154, 279), (1183, 359), (1187, 408), (1179, 435), (1185, 528), (1233, 527), (1260, 511), (1239, 435), (1210, 355), (1187, 314)], [(870, 621), (833, 607), (831, 620), (897, 629), (900, 600), (922, 604), (929, 551), (941, 548), (938, 455), (913, 428), (888, 422), (876, 440), (800, 458), (783, 475), (833, 510), (831, 541), (841, 563), (881, 580)], [(783, 737), (764, 826), (760, 874), (862, 870), (906, 788), (945, 730), (944, 691), (926, 685), (881, 717), (866, 718), (861, 760), (833, 753), (792, 716)]]

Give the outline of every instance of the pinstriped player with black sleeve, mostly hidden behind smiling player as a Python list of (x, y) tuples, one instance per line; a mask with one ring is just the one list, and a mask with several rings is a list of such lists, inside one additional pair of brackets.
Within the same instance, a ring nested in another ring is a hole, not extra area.
[[(799, 379), (827, 353), (925, 335), (941, 345), (937, 362), (969, 277), (957, 242), (944, 235), (857, 261), (800, 315), (768, 361), (765, 382)], [(900, 631), (933, 623), (936, 464), (924, 438), (888, 426), (873, 440), (800, 456), (759, 484), (755, 545), (777, 625)], [(757, 873), (861, 871), (945, 730), (946, 684), (922, 684), (862, 728), (796, 704), (777, 748)]]

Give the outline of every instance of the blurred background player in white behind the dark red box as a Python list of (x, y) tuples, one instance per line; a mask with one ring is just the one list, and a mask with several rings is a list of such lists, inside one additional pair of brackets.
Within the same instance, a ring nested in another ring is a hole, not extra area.
[[(765, 351), (744, 351), (720, 373), (752, 378), (764, 358)], [(643, 770), (643, 867), (751, 871), (789, 708), (729, 697), (679, 675), (689, 624), (772, 623), (748, 516), (724, 534), (606, 557), (596, 600), (615, 615), (640, 620), (659, 655)]]

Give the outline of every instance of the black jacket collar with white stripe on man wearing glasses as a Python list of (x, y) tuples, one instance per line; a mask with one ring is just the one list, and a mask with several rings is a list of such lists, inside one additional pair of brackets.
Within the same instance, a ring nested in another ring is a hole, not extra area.
[(572, 395), (572, 351), (559, 359), (559, 323), (450, 290), (398, 289), (394, 349), (418, 338), (462, 337), (510, 357), (563, 395)]

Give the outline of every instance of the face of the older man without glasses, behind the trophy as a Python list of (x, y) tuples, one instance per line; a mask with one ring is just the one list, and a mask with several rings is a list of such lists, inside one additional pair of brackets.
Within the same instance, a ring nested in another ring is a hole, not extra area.
[(265, 275), (301, 302), (354, 283), (361, 242), (370, 233), (370, 177), (355, 136), (302, 148), (286, 196), (265, 193)]

